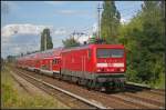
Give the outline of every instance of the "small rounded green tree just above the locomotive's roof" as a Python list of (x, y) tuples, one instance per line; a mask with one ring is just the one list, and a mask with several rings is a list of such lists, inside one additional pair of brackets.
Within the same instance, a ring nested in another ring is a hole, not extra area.
[(65, 48), (80, 46), (80, 42), (76, 41), (74, 38), (69, 38), (69, 39), (62, 40), (62, 43)]

